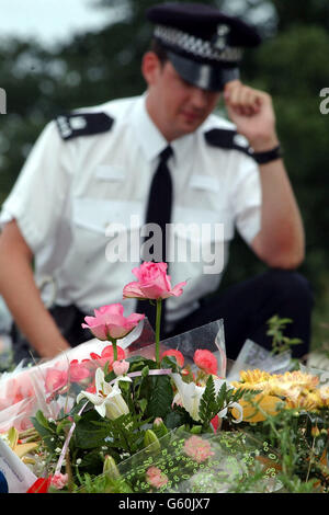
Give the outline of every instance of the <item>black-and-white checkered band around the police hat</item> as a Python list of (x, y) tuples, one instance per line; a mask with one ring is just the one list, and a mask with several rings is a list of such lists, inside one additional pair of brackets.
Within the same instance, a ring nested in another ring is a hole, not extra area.
[(164, 45), (167, 44), (171, 47), (180, 48), (195, 57), (204, 59), (219, 62), (237, 62), (241, 60), (242, 57), (242, 48), (240, 47), (227, 47), (224, 50), (218, 50), (208, 41), (166, 25), (157, 25), (154, 35)]

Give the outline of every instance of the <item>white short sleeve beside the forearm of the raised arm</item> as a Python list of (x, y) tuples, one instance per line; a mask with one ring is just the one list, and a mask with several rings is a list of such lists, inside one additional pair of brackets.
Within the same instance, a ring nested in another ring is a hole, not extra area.
[(261, 229), (260, 172), (253, 159), (243, 154), (236, 170), (231, 196), (235, 224), (240, 236), (250, 244)]

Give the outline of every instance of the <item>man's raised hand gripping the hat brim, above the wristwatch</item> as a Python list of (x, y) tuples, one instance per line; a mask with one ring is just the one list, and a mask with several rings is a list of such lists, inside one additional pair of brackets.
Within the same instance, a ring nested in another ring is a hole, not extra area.
[(225, 85), (224, 100), (237, 131), (248, 139), (256, 152), (279, 145), (272, 99), (268, 93), (234, 80)]

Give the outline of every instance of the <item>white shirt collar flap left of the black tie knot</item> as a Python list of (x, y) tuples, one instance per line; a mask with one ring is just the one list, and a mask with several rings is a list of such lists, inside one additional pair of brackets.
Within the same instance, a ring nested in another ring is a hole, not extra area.
[(162, 136), (147, 112), (146, 94), (137, 101), (133, 114), (133, 125), (136, 139), (139, 141), (148, 161), (157, 158), (168, 146), (167, 139)]

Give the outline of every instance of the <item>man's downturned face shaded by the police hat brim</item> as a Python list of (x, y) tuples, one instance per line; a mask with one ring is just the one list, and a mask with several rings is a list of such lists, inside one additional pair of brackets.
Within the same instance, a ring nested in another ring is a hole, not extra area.
[(170, 61), (157, 59), (148, 82), (147, 108), (168, 141), (193, 133), (213, 112), (218, 92), (185, 82)]

